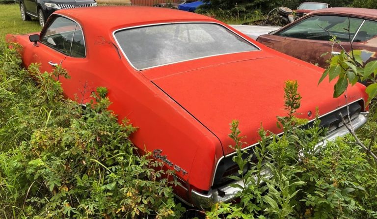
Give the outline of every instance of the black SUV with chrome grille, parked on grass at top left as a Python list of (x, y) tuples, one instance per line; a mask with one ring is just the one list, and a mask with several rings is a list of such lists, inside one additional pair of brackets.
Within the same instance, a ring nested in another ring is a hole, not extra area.
[(43, 27), (46, 19), (56, 10), (97, 6), (95, 0), (20, 0), (21, 18), (29, 21), (38, 18)]

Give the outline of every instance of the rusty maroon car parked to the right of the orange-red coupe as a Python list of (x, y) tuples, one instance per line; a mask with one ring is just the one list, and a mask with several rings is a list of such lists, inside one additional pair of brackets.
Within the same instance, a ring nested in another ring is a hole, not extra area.
[[(347, 30), (349, 27), (350, 33)], [(341, 41), (340, 44), (347, 52), (350, 51), (350, 42), (352, 42), (353, 49), (375, 53), (377, 10), (365, 8), (316, 10), (285, 27), (259, 36), (257, 41), (287, 55), (327, 67), (326, 60), (329, 59), (330, 53), (339, 54), (341, 51), (340, 46), (330, 41), (331, 35)], [(373, 55), (368, 61), (375, 59)]]

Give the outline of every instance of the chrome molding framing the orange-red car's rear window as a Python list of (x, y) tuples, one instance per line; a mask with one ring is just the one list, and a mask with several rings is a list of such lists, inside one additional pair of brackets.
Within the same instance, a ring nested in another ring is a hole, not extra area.
[[(257, 50), (253, 50), (253, 51), (244, 51), (244, 52), (235, 52), (235, 53), (225, 53), (225, 54), (218, 54), (218, 55), (207, 55), (207, 56), (202, 56), (202, 57), (197, 57), (197, 58), (191, 58), (191, 59), (187, 59), (187, 60), (182, 60), (182, 61), (176, 61), (176, 62), (171, 62), (171, 63), (167, 63), (167, 64), (162, 64), (162, 65), (156, 65), (156, 66), (152, 66), (152, 67), (148, 67), (148, 68), (141, 68), (141, 69), (138, 69), (136, 68), (130, 61), (130, 59), (127, 57), (127, 55), (124, 53), (122, 47), (120, 46), (117, 38), (115, 37), (115, 33), (118, 32), (118, 31), (121, 31), (121, 30), (126, 30), (126, 29), (134, 29), (134, 28), (139, 28), (139, 27), (152, 27), (152, 26), (160, 26), (160, 25), (170, 25), (170, 24), (215, 24), (215, 25), (219, 25), (221, 27), (225, 27), (227, 30), (229, 30), (230, 32), (232, 32), (233, 34), (237, 35), (238, 37), (241, 37), (243, 40), (245, 40), (247, 43), (251, 44), (252, 46), (254, 46), (255, 48), (257, 48)], [(122, 51), (122, 54), (123, 56), (126, 58), (127, 62), (136, 70), (136, 71), (142, 71), (142, 70), (147, 70), (147, 69), (151, 69), (151, 68), (156, 68), (156, 67), (161, 67), (161, 66), (165, 66), (165, 65), (171, 65), (171, 64), (175, 64), (175, 63), (180, 63), (180, 62), (185, 62), (185, 61), (190, 61), (190, 60), (196, 60), (196, 59), (200, 59), (200, 58), (207, 58), (207, 57), (213, 57), (213, 56), (219, 56), (219, 55), (229, 55), (229, 54), (237, 54), (237, 53), (248, 53), (248, 52), (256, 52), (256, 51), (261, 51), (261, 49), (255, 45), (254, 43), (250, 42), (249, 40), (245, 39), (244, 37), (242, 37), (241, 35), (239, 35), (238, 33), (234, 32), (233, 30), (231, 30), (230, 28), (222, 25), (222, 24), (219, 24), (219, 23), (216, 23), (216, 22), (206, 22), (206, 21), (185, 21), (185, 22), (167, 22), (167, 23), (156, 23), (156, 24), (148, 24), (148, 25), (139, 25), (139, 26), (132, 26), (132, 27), (124, 27), (124, 28), (120, 28), (120, 29), (116, 29), (112, 32), (112, 37), (114, 38), (117, 46), (119, 47), (119, 50)]]

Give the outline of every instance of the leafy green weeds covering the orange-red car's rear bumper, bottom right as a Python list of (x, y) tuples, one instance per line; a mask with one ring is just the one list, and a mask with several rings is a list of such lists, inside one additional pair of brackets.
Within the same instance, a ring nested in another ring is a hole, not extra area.
[[(305, 121), (296, 118), (300, 96), (296, 82), (286, 82), (285, 106), (288, 115), (279, 117), (284, 130), (281, 137), (260, 129), (261, 140), (251, 154), (257, 163), (242, 173), (244, 165), (252, 158), (242, 159), (243, 137), (238, 121), (231, 124), (230, 137), (235, 141), (237, 156), (234, 162), (240, 167), (244, 186), (238, 193), (238, 204), (215, 205), (208, 218), (232, 219), (288, 219), (288, 218), (377, 218), (376, 162), (356, 144), (349, 143), (352, 136), (338, 138), (323, 148), (316, 147), (326, 130), (320, 121), (304, 130)], [(373, 107), (375, 110), (375, 107)], [(363, 128), (360, 137), (377, 151), (376, 118)], [(266, 162), (267, 161), (267, 162)], [(266, 170), (272, 174), (265, 175)], [(255, 177), (257, 176), (257, 177)], [(264, 182), (264, 183), (263, 183)]]

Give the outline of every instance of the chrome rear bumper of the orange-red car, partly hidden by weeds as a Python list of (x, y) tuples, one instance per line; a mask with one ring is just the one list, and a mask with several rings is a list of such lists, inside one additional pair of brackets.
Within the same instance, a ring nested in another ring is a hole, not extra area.
[[(369, 112), (361, 112), (357, 115), (357, 117), (352, 119), (352, 127), (354, 130), (359, 129), (361, 126), (363, 126), (367, 120), (368, 120), (368, 115)], [(324, 141), (319, 142), (316, 147), (320, 147), (325, 144), (326, 141), (332, 141), (336, 137), (344, 136), (348, 134), (349, 131), (345, 125), (342, 125), (341, 127), (335, 129), (334, 131), (330, 132)], [(263, 175), (270, 175), (269, 170), (264, 170), (262, 173)], [(244, 186), (242, 181), (235, 181), (232, 182), (232, 184), (238, 184), (241, 185), (242, 187)], [(225, 192), (225, 195), (221, 196), (218, 194), (218, 190)], [(222, 187), (219, 187), (218, 189), (211, 189), (207, 194), (203, 194), (200, 192), (196, 192), (195, 190), (191, 190), (191, 199), (194, 202), (193, 204), (196, 207), (206, 209), (210, 208), (213, 204), (218, 203), (218, 202), (229, 202), (232, 199), (236, 197), (236, 194), (240, 192), (240, 188), (234, 188), (230, 185), (225, 185)]]

